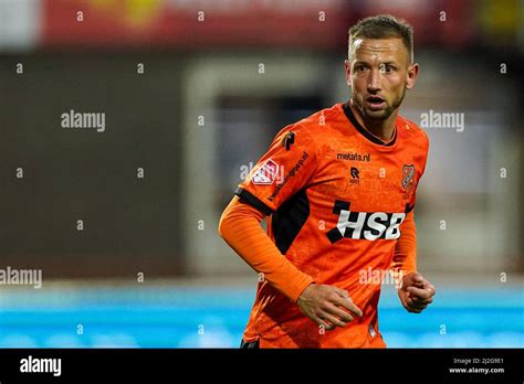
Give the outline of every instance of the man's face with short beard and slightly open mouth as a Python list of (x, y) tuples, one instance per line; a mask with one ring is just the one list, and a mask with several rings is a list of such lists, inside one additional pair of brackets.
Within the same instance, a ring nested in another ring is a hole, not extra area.
[(385, 120), (400, 107), (406, 89), (415, 85), (418, 64), (401, 39), (355, 39), (346, 60), (346, 79), (353, 105), (368, 120)]

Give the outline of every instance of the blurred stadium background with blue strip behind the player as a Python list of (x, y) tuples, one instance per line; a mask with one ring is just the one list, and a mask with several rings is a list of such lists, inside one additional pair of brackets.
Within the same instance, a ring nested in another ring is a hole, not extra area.
[(0, 0), (0, 346), (238, 346), (256, 274), (220, 214), (283, 126), (347, 100), (347, 30), (378, 13), (415, 28), (401, 114), (463, 117), (425, 127), (436, 302), (386, 284), (385, 341), (524, 346), (518, 0)]

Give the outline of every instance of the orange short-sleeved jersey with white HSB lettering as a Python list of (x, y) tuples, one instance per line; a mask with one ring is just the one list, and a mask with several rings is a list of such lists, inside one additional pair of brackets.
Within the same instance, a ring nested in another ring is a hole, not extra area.
[(323, 331), (261, 281), (244, 340), (260, 340), (261, 348), (385, 346), (377, 321), (380, 281), (370, 271), (391, 267), (428, 146), (426, 134), (400, 116), (391, 140), (381, 142), (347, 104), (279, 132), (235, 193), (270, 215), (268, 235), (296, 268), (316, 284), (347, 290), (364, 314)]

